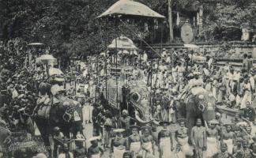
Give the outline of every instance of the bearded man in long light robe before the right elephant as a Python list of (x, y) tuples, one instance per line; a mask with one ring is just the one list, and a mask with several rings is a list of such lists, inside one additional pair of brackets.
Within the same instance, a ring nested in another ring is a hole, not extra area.
[(197, 119), (196, 126), (191, 130), (190, 139), (194, 146), (196, 158), (203, 158), (203, 152), (207, 149), (207, 137), (204, 126), (201, 126), (201, 119)]

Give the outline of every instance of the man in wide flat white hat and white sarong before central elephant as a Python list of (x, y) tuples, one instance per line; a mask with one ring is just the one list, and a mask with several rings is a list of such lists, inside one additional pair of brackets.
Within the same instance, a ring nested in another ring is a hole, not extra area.
[(113, 130), (115, 137), (111, 140), (111, 152), (110, 157), (119, 158), (126, 152), (126, 138), (123, 137), (124, 129)]

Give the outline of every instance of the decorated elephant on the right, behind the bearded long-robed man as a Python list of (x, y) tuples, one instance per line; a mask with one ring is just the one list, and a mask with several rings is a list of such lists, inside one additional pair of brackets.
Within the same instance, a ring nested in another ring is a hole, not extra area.
[[(175, 100), (175, 108), (177, 111), (177, 119), (186, 119), (186, 127), (189, 134), (196, 120), (201, 119), (203, 124), (215, 119), (215, 103), (216, 100), (211, 92), (202, 87), (195, 87), (186, 90), (186, 95), (179, 100)], [(207, 126), (207, 125), (205, 125)]]

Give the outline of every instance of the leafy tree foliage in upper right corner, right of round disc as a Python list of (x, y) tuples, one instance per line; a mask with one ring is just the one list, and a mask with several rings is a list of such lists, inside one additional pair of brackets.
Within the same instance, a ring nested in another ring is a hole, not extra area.
[(256, 2), (254, 0), (217, 2), (205, 17), (201, 36), (208, 41), (240, 40), (242, 28), (255, 29)]

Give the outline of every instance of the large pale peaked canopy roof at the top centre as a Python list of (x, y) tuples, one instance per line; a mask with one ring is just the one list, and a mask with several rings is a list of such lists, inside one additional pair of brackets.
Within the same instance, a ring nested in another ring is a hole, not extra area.
[(115, 2), (109, 9), (104, 13), (100, 14), (97, 18), (100, 17), (109, 17), (112, 15), (133, 15), (133, 16), (142, 16), (142, 17), (156, 17), (164, 18), (160, 13), (156, 13), (154, 10), (150, 9), (148, 6), (140, 2), (134, 2), (131, 0), (120, 0)]

